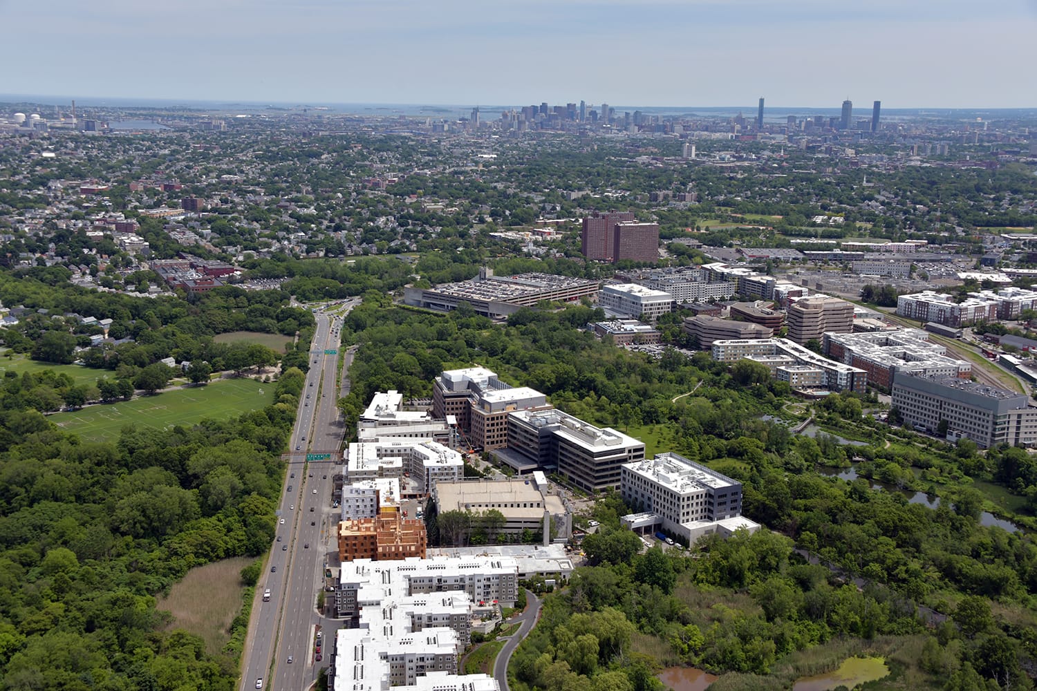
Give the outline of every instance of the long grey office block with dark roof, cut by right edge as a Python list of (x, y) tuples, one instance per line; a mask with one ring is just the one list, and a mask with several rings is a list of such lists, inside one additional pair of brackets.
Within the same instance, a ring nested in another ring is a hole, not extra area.
[(892, 399), (905, 424), (934, 432), (946, 421), (949, 434), (983, 449), (1037, 443), (1037, 408), (1026, 394), (966, 379), (897, 375)]

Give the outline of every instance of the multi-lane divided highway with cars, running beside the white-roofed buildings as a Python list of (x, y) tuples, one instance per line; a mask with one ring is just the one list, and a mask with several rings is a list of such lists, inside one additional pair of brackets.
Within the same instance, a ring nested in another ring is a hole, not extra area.
[[(345, 312), (359, 304), (359, 298), (348, 300)], [(277, 512), (277, 537), (256, 584), (242, 654), (243, 691), (260, 688), (260, 679), (263, 689), (308, 688), (329, 661), (315, 659), (316, 627), (328, 627), (325, 637), (334, 639), (334, 622), (320, 616), (316, 602), (325, 566), (338, 562), (338, 510), (332, 508), (332, 491), (343, 467), (335, 456), (345, 429), (336, 404), (340, 391), (348, 393), (353, 352), (339, 351), (341, 316), (317, 312), (315, 317), (310, 370), (285, 456), (288, 477)], [(344, 358), (341, 384), (336, 381), (339, 356)], [(271, 591), (270, 602), (262, 601), (264, 588)]]

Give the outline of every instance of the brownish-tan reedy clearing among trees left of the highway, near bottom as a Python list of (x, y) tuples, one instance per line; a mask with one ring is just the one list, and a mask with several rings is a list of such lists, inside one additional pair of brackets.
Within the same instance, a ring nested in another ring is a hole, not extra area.
[(172, 612), (168, 629), (184, 629), (205, 640), (205, 650), (217, 655), (230, 640), (230, 624), (242, 606), (241, 571), (253, 557), (235, 556), (196, 567), (160, 598), (160, 610)]

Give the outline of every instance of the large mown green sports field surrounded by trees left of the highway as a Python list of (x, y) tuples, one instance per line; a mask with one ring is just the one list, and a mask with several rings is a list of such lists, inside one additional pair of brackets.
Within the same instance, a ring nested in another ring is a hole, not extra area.
[(274, 384), (254, 379), (221, 379), (206, 386), (59, 412), (50, 419), (85, 440), (114, 441), (125, 425), (161, 430), (173, 425), (194, 425), (206, 418), (224, 420), (273, 402)]

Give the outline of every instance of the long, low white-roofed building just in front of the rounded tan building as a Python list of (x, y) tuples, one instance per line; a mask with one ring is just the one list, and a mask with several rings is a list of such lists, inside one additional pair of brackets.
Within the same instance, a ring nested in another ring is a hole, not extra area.
[(736, 363), (742, 357), (752, 359), (765, 365), (775, 374), (779, 367), (807, 365), (823, 372), (823, 386), (834, 392), (863, 394), (868, 386), (865, 370), (818, 355), (788, 339), (713, 341), (710, 353), (721, 363)]

